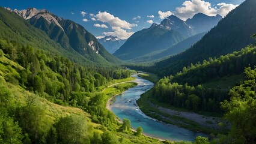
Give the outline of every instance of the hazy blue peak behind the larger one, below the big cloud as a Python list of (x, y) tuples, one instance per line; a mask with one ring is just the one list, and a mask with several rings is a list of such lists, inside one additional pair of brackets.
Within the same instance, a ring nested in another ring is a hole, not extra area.
[(216, 16), (207, 16), (203, 13), (195, 14), (191, 19), (187, 19), (187, 25), (192, 26), (192, 28), (197, 32), (197, 34), (201, 32), (207, 32), (216, 26), (219, 20), (222, 19), (222, 16), (217, 14)]

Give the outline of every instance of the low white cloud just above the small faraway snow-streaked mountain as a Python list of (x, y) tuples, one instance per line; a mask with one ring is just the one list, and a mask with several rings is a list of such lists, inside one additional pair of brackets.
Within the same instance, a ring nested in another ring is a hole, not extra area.
[(103, 34), (108, 35), (108, 36), (109, 35), (117, 36), (118, 38), (121, 38), (123, 40), (129, 38), (132, 34), (134, 34), (134, 32), (127, 32), (126, 30), (121, 29), (120, 27), (112, 27), (112, 29), (114, 31), (103, 32)]

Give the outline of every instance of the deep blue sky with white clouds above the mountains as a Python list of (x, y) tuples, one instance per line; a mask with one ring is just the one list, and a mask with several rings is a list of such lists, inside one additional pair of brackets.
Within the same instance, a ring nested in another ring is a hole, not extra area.
[(245, 0), (1, 0), (1, 7), (46, 9), (84, 26), (97, 38), (106, 35), (127, 39), (174, 14), (182, 20), (197, 13), (226, 14)]

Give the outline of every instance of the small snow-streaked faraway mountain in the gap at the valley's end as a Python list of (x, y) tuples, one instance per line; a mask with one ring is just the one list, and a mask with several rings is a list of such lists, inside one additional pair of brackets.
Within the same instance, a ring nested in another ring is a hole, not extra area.
[(104, 38), (100, 38), (98, 41), (111, 54), (117, 51), (126, 42), (126, 40), (121, 40), (120, 38), (113, 37), (111, 35), (106, 36)]

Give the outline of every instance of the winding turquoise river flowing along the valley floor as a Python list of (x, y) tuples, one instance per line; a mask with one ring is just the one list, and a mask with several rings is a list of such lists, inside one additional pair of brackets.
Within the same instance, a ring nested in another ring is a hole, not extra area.
[(145, 135), (158, 139), (194, 142), (197, 136), (209, 136), (175, 125), (164, 124), (142, 113), (136, 104), (136, 100), (138, 100), (141, 94), (151, 89), (154, 84), (138, 77), (136, 74), (134, 74), (133, 77), (136, 77), (134, 82), (138, 83), (138, 85), (128, 89), (123, 94), (117, 95), (111, 105), (111, 111), (114, 112), (118, 118), (122, 120), (124, 118), (130, 119), (133, 129), (136, 130), (137, 127), (141, 126)]

